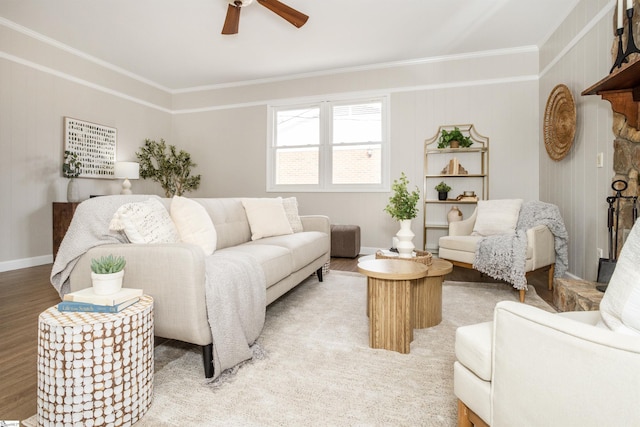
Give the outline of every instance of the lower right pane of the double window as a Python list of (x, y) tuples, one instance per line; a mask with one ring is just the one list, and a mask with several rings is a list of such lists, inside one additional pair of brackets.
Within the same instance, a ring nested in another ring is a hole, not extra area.
[(380, 144), (333, 147), (333, 184), (382, 183)]

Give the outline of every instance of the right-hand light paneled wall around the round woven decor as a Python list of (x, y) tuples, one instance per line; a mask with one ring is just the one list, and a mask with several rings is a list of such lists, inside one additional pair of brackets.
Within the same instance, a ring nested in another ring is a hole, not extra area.
[[(613, 113), (609, 102), (581, 92), (609, 74), (613, 63), (613, 7), (607, 0), (583, 0), (540, 51), (540, 117), (560, 83), (577, 109), (575, 141), (561, 161), (549, 158), (540, 134), (540, 198), (559, 206), (569, 232), (569, 272), (595, 280), (597, 248), (608, 251), (607, 203), (613, 177)], [(598, 153), (604, 167), (596, 167)]]

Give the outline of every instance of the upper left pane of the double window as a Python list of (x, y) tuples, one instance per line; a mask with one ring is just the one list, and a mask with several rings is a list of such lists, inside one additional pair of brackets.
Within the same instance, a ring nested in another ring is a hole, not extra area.
[(320, 143), (320, 108), (278, 111), (276, 120), (276, 146)]

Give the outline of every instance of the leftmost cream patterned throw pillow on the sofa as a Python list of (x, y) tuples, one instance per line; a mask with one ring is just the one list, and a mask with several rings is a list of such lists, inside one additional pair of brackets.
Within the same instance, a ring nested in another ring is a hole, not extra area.
[(126, 203), (113, 215), (109, 229), (123, 231), (131, 243), (176, 243), (180, 241), (169, 212), (158, 198)]

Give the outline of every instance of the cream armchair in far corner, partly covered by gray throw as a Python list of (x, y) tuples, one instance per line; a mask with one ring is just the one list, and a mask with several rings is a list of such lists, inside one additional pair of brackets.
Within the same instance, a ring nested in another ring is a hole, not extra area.
[[(438, 256), (463, 268), (474, 268), (476, 248), (485, 236), (472, 234), (476, 225), (478, 208), (462, 221), (449, 224), (449, 235), (439, 239)], [(517, 214), (516, 214), (517, 221)], [(514, 224), (515, 225), (515, 224)], [(535, 225), (526, 230), (527, 246), (525, 251), (524, 271), (527, 275), (534, 271), (548, 269), (548, 287), (553, 288), (556, 252), (555, 237), (546, 225)], [(524, 302), (525, 289), (520, 289), (520, 301)]]

